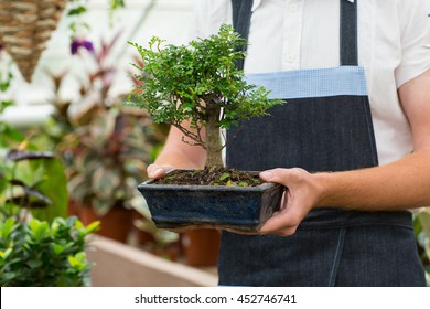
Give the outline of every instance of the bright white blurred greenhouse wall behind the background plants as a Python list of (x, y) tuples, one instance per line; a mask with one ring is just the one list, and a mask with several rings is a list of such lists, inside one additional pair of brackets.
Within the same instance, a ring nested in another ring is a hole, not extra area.
[[(148, 10), (152, 0), (126, 0), (126, 9), (114, 14), (112, 25), (109, 25), (107, 0), (88, 0), (88, 13), (85, 20), (90, 25), (88, 39), (99, 45), (101, 38), (110, 39), (121, 30), (120, 44), (112, 57), (117, 68), (121, 71), (116, 82), (115, 92), (125, 92), (131, 88), (127, 72), (131, 68), (130, 62), (135, 50), (127, 41), (144, 45), (152, 35), (158, 35), (169, 43), (181, 44), (189, 41), (191, 18), (194, 0), (155, 0), (154, 6)], [(143, 22), (140, 19), (146, 17)], [(32, 82), (26, 83), (14, 70), (13, 84), (7, 94), (17, 107), (7, 110), (2, 118), (15, 125), (36, 124), (43, 121), (51, 111), (49, 98), (52, 96), (52, 83), (45, 71), (61, 73), (71, 72), (67, 84), (62, 88), (65, 98), (73, 98), (77, 90), (76, 76), (83, 74), (85, 62), (69, 52), (69, 19), (63, 15), (57, 30), (51, 36), (47, 49), (43, 52)], [(0, 57), (0, 62), (4, 56)], [(89, 64), (88, 64), (89, 65)], [(0, 67), (1, 70), (1, 67)], [(1, 95), (1, 94), (0, 94)], [(4, 95), (4, 94), (3, 94)]]

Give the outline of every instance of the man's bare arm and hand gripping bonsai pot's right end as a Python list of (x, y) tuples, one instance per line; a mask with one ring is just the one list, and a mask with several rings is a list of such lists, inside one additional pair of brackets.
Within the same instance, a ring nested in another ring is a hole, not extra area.
[(333, 206), (366, 211), (430, 205), (430, 71), (399, 89), (413, 134), (413, 153), (376, 168), (310, 174), (301, 169), (265, 171), (266, 181), (289, 188), (283, 209), (261, 233), (291, 235), (309, 211)]

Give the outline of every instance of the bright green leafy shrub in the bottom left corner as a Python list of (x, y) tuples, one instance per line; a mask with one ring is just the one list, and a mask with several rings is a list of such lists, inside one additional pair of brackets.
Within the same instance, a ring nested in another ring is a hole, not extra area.
[(51, 224), (13, 217), (0, 222), (1, 286), (88, 286), (92, 265), (85, 255), (86, 236), (98, 222), (85, 227), (76, 217)]

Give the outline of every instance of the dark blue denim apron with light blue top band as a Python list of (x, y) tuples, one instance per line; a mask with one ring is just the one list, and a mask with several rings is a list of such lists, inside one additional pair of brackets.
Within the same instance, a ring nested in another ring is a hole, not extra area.
[[(340, 1), (341, 66), (247, 75), (271, 98), (288, 103), (227, 132), (228, 140), (234, 137), (228, 167), (319, 172), (378, 164), (364, 70), (357, 65), (357, 0)], [(252, 1), (232, 4), (233, 24), (247, 39)], [(408, 211), (319, 209), (289, 237), (223, 232), (218, 274), (219, 285), (239, 286), (426, 285)]]

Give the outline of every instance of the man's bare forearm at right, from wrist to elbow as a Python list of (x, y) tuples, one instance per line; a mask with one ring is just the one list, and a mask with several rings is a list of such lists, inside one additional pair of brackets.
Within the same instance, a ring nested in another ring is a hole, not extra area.
[(320, 199), (315, 207), (366, 211), (430, 205), (430, 149), (390, 164), (357, 171), (314, 174)]

